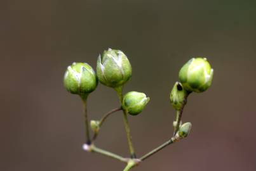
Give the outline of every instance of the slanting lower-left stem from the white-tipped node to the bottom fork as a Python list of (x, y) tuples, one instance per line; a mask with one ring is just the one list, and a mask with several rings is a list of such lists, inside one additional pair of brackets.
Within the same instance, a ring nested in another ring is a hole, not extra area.
[(128, 162), (128, 158), (123, 158), (122, 156), (119, 156), (119, 155), (116, 155), (114, 153), (111, 153), (109, 151), (106, 151), (104, 149), (101, 149), (101, 148), (97, 148), (96, 146), (94, 145), (91, 145), (89, 146), (89, 150), (88, 151), (91, 151), (93, 153), (98, 153), (100, 155), (104, 155), (104, 156), (108, 156), (110, 158), (114, 158), (116, 160), (119, 160), (120, 162), (125, 162), (127, 163)]

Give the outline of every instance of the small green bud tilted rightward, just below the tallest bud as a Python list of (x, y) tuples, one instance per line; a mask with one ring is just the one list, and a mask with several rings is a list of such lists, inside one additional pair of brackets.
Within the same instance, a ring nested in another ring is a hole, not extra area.
[(122, 107), (131, 115), (138, 115), (149, 102), (149, 98), (143, 92), (131, 91), (125, 94)]

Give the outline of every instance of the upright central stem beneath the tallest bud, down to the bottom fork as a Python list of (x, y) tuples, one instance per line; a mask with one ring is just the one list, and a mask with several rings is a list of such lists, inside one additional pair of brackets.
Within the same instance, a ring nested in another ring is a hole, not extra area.
[[(116, 87), (115, 90), (118, 93), (119, 101), (122, 105), (122, 102), (123, 102), (123, 86)], [(124, 121), (124, 124), (125, 124), (126, 137), (127, 137), (127, 141), (128, 141), (128, 146), (129, 146), (131, 158), (136, 158), (135, 150), (133, 148), (133, 143), (132, 143), (131, 134), (130, 134), (130, 126), (129, 126), (129, 122), (128, 122), (127, 112), (125, 110), (123, 110), (123, 121)]]

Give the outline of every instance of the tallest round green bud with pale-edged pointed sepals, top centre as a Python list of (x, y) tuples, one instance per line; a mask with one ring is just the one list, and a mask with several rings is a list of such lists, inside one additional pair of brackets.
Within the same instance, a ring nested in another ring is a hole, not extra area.
[(98, 56), (98, 80), (108, 87), (119, 87), (131, 77), (131, 65), (126, 55), (119, 50), (109, 49)]

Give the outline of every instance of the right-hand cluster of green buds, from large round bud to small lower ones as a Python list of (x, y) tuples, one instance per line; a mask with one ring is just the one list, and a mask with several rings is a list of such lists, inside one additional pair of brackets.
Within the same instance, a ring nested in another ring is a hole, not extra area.
[[(170, 94), (170, 102), (177, 112), (173, 127), (178, 128), (179, 136), (185, 137), (189, 134), (191, 123), (181, 124), (181, 113), (187, 103), (187, 96), (191, 92), (204, 92), (212, 84), (213, 69), (206, 58), (192, 58), (187, 61), (179, 72), (179, 81), (173, 86)], [(180, 123), (178, 123), (180, 122)], [(179, 126), (177, 125), (179, 124)]]

